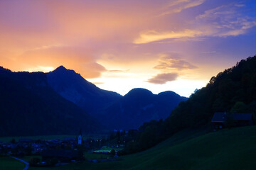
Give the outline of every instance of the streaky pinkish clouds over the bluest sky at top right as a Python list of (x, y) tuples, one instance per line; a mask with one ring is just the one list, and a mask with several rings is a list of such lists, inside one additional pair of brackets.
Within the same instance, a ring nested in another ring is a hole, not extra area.
[(209, 9), (196, 16), (198, 25), (205, 26), (212, 33), (207, 36), (237, 36), (256, 26), (256, 18), (247, 16), (241, 11), (243, 4), (227, 4)]

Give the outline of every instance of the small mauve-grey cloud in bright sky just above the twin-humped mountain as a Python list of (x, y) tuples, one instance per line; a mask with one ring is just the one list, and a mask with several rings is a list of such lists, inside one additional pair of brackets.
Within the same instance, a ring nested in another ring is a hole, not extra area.
[(157, 74), (155, 77), (148, 79), (147, 82), (151, 84), (166, 84), (168, 81), (174, 81), (178, 77), (177, 73), (161, 73)]

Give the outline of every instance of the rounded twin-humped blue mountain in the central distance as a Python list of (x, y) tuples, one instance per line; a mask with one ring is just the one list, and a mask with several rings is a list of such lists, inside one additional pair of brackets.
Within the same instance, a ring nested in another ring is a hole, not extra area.
[(156, 95), (146, 89), (132, 89), (107, 108), (102, 120), (111, 128), (137, 129), (146, 121), (167, 118), (178, 103), (186, 99), (173, 91)]

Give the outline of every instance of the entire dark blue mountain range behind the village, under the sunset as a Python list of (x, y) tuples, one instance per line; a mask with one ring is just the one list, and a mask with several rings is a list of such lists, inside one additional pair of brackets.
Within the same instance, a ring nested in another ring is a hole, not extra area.
[(132, 89), (125, 96), (98, 88), (63, 66), (53, 72), (11, 72), (0, 67), (0, 135), (58, 135), (139, 128), (165, 119), (186, 98)]

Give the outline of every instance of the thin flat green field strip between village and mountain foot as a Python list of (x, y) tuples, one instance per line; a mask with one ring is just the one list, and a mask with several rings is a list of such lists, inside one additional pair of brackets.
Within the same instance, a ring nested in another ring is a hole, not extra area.
[[(10, 142), (12, 139), (18, 141), (19, 139), (31, 139), (31, 140), (64, 140), (65, 138), (75, 138), (75, 135), (47, 135), (47, 136), (19, 136), (19, 137), (0, 137), (1, 142)], [(84, 139), (101, 139), (102, 137), (107, 137), (107, 135), (102, 134), (88, 134), (82, 136)]]

